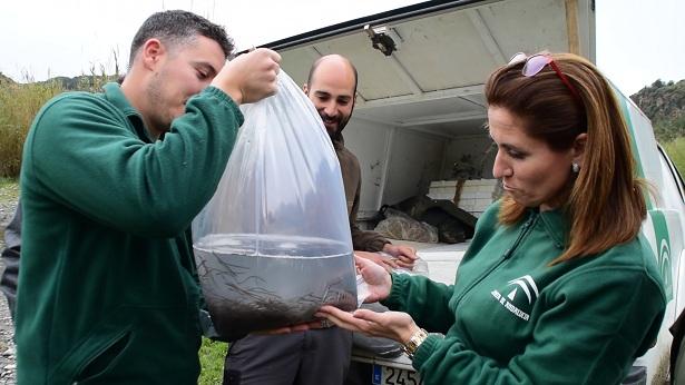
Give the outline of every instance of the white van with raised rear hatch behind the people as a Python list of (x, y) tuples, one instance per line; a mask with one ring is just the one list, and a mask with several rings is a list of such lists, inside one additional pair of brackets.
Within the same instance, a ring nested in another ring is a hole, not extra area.
[[(491, 179), (496, 151), (483, 129), (483, 82), (516, 52), (569, 51), (595, 61), (594, 0), (425, 1), (266, 45), (282, 67), (306, 82), (311, 63), (327, 53), (350, 58), (359, 70), (358, 103), (345, 145), (362, 166), (360, 219), (429, 192), (452, 178), (456, 162), (471, 161), (472, 177)], [(610, 79), (611, 73), (607, 73)], [(667, 328), (685, 306), (685, 188), (657, 146), (645, 115), (617, 89), (639, 172), (656, 187), (643, 231), (657, 257), (668, 307), (656, 346), (634, 366), (629, 383), (667, 377)], [(438, 184), (439, 185), (439, 184)], [(478, 214), (478, 213), (476, 213)], [(452, 283), (468, 244), (417, 245), (431, 278)], [(369, 383), (419, 384), (410, 361), (355, 352), (371, 364)]]

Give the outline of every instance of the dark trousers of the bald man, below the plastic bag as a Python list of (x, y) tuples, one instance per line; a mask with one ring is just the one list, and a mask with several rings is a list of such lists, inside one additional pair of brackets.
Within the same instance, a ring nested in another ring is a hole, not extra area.
[(351, 352), (352, 333), (337, 327), (248, 335), (231, 344), (224, 385), (342, 385)]

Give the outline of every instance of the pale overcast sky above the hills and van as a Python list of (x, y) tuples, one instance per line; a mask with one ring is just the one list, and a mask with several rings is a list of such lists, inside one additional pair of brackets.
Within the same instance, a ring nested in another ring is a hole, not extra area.
[[(23, 81), (114, 72), (153, 12), (186, 9), (226, 26), (238, 48), (419, 2), (411, 0), (2, 0), (0, 71)], [(630, 95), (685, 79), (684, 0), (596, 0), (597, 66)], [(530, 31), (535, 33), (536, 31)]]

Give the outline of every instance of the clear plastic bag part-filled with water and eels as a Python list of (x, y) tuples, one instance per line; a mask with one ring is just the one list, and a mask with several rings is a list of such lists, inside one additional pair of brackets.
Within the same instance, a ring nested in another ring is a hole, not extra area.
[(356, 307), (340, 165), (319, 113), (283, 71), (278, 91), (242, 107), (216, 194), (193, 223), (212, 320), (227, 339)]

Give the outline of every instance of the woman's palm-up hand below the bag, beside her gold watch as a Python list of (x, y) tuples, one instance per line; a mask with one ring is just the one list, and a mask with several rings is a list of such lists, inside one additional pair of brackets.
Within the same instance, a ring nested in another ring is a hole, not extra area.
[(361, 332), (374, 337), (385, 337), (401, 344), (408, 343), (414, 332), (419, 330), (419, 326), (411, 316), (400, 312), (375, 313), (369, 309), (356, 309), (353, 313), (348, 313), (334, 306), (325, 305), (319, 309), (316, 316), (325, 317), (348, 330)]

